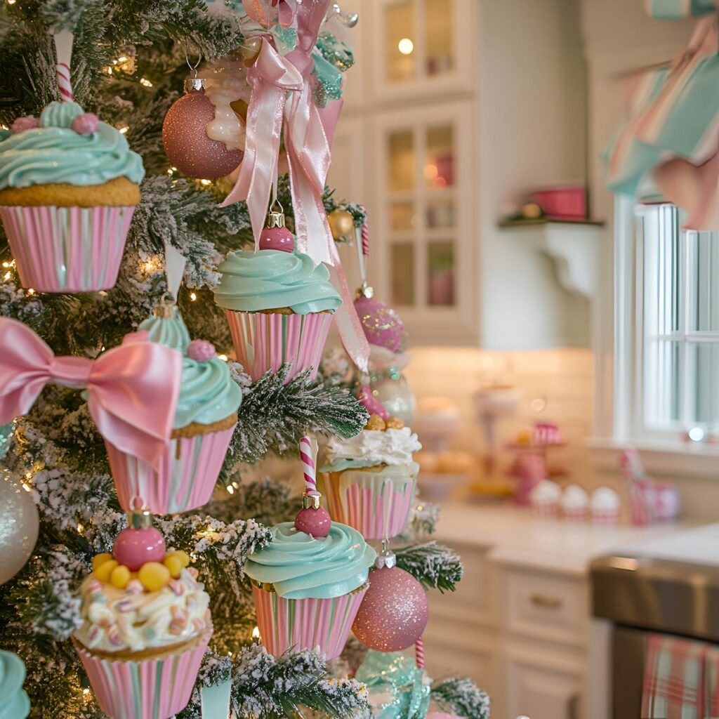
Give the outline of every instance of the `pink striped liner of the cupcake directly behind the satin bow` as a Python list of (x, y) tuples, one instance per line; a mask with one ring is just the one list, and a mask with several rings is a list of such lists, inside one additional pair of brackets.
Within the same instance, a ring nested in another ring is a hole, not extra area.
[(155, 514), (187, 512), (208, 503), (235, 426), (170, 439), (157, 470), (105, 442), (122, 509), (132, 510), (136, 499)]

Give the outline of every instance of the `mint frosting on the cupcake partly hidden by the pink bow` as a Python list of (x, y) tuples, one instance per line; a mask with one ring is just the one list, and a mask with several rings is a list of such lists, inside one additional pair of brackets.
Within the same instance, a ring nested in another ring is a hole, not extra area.
[(180, 399), (175, 411), (174, 429), (192, 422), (212, 424), (237, 412), (242, 390), (232, 379), (229, 367), (217, 355), (206, 362), (187, 356), (190, 334), (178, 308), (172, 317), (149, 317), (137, 328), (147, 332), (152, 342), (165, 344), (183, 353)]

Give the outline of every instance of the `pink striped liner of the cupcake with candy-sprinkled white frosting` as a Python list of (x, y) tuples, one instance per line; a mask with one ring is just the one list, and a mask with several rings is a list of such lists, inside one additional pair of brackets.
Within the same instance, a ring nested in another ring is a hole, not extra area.
[(192, 649), (141, 661), (101, 659), (73, 644), (97, 703), (110, 719), (170, 719), (190, 701), (211, 636), (206, 632)]

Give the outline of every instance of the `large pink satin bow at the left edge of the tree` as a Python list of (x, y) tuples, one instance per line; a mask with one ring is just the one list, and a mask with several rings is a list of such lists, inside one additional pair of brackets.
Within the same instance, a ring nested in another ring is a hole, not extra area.
[(157, 466), (173, 431), (182, 355), (129, 334), (94, 361), (55, 357), (22, 322), (0, 318), (0, 424), (29, 411), (47, 384), (87, 388), (100, 434), (121, 452)]

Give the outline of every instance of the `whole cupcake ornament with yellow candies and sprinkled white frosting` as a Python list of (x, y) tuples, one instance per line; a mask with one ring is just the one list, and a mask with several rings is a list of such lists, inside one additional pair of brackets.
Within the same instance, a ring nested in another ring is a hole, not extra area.
[(73, 645), (111, 719), (169, 719), (188, 704), (212, 635), (209, 596), (149, 511), (128, 520), (112, 553), (93, 557)]

